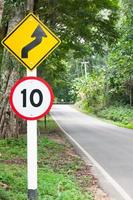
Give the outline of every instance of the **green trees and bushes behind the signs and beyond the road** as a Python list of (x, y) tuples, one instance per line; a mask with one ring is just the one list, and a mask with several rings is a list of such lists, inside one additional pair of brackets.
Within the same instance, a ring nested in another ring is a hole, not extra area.
[[(33, 11), (58, 35), (60, 47), (38, 67), (55, 101), (75, 103), (133, 128), (132, 0), (0, 1), (0, 39)], [(0, 137), (16, 137), (24, 123), (9, 106), (10, 89), (26, 70), (0, 46)]]

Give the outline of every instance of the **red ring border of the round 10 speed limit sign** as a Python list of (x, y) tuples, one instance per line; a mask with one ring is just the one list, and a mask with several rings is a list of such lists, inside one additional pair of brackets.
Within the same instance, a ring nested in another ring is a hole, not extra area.
[[(38, 80), (40, 82), (42, 82), (49, 90), (50, 92), (50, 96), (51, 96), (51, 100), (50, 100), (50, 104), (49, 104), (49, 107), (47, 108), (47, 110), (42, 113), (41, 115), (37, 116), (37, 117), (26, 117), (24, 115), (21, 115), (15, 108), (14, 104), (13, 104), (13, 93), (16, 89), (16, 87), (22, 83), (23, 81), (25, 80)], [(13, 85), (13, 87), (11, 88), (11, 92), (10, 92), (10, 97), (9, 97), (9, 103), (11, 105), (11, 108), (12, 110), (16, 113), (17, 116), (19, 116), (20, 118), (22, 119), (25, 119), (25, 120), (38, 120), (42, 117), (44, 117), (45, 115), (47, 115), (49, 112), (50, 112), (50, 109), (53, 105), (53, 102), (54, 102), (54, 94), (53, 94), (53, 90), (51, 88), (51, 86), (48, 84), (48, 82), (46, 82), (44, 79), (40, 78), (40, 77), (35, 77), (35, 76), (28, 76), (28, 77), (23, 77), (21, 79), (19, 79), (18, 81), (16, 81), (16, 83)]]

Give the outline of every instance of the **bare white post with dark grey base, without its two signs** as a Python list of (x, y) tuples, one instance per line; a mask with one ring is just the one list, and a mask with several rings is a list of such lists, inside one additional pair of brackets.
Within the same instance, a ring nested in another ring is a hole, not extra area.
[[(37, 70), (27, 70), (27, 76), (37, 76)], [(28, 200), (37, 200), (37, 120), (27, 120)]]

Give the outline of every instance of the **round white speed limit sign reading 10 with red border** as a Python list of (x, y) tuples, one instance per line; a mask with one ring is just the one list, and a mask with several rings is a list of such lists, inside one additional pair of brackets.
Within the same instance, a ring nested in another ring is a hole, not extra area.
[(13, 111), (26, 120), (37, 120), (51, 109), (54, 95), (42, 78), (24, 77), (11, 89), (10, 105)]

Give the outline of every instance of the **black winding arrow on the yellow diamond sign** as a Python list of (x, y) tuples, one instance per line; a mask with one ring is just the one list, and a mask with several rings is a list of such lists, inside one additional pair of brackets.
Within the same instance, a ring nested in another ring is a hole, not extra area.
[(31, 35), (31, 37), (35, 37), (36, 39), (33, 40), (31, 43), (27, 44), (25, 47), (23, 47), (21, 52), (22, 58), (28, 58), (28, 52), (35, 48), (37, 45), (39, 45), (42, 42), (43, 37), (47, 37), (46, 33), (43, 31), (43, 29), (40, 27), (40, 25), (37, 26), (34, 33)]

